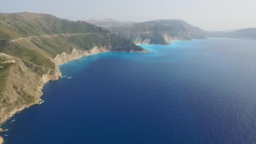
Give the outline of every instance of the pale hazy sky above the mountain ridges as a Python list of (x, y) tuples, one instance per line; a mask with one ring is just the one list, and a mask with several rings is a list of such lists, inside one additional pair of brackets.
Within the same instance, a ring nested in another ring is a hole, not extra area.
[(1, 0), (1, 13), (24, 11), (69, 20), (182, 19), (208, 31), (256, 27), (256, 0)]

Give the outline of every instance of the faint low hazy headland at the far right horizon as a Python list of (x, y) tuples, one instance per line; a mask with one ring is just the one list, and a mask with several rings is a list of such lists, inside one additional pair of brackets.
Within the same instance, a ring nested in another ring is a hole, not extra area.
[(239, 29), (232, 32), (209, 32), (209, 37), (256, 39), (256, 28)]

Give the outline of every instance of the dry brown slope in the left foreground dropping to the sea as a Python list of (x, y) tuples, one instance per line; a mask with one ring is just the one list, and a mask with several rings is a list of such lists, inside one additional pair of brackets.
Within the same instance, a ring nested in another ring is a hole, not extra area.
[(40, 76), (28, 68), (20, 58), (4, 53), (0, 53), (0, 58), (15, 61), (8, 65), (1, 63), (1, 69), (8, 70), (3, 71), (7, 75), (4, 76), (5, 87), (0, 93), (0, 123), (3, 123), (16, 112), (42, 101), (40, 96), (43, 94), (41, 90), (44, 83), (58, 79), (61, 74), (56, 67), (54, 71), (49, 70), (48, 73)]

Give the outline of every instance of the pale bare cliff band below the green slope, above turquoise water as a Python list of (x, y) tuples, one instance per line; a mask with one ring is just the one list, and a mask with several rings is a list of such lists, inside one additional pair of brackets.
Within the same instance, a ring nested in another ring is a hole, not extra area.
[(85, 57), (85, 56), (88, 56), (88, 55), (92, 55), (92, 54), (95, 54), (95, 53), (100, 53), (100, 52), (108, 52), (109, 50), (107, 50), (107, 47), (93, 47), (92, 49), (90, 50), (85, 50), (85, 51), (82, 51), (82, 50), (77, 50), (77, 49), (73, 49), (72, 52), (70, 54), (66, 53), (66, 52), (63, 52), (61, 53), (61, 55), (57, 55), (55, 58), (54, 58), (54, 63), (57, 64), (57, 65), (60, 65), (60, 64), (63, 64), (63, 63), (67, 63), (67, 62), (70, 62), (70, 61), (73, 61), (74, 59), (77, 59), (77, 58), (81, 58), (81, 57)]

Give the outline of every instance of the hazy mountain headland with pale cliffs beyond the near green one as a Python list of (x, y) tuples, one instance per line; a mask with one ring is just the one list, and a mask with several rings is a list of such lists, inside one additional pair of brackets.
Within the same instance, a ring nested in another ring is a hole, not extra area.
[(170, 44), (173, 40), (205, 39), (206, 34), (183, 20), (154, 20), (108, 30), (135, 44)]

